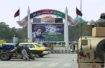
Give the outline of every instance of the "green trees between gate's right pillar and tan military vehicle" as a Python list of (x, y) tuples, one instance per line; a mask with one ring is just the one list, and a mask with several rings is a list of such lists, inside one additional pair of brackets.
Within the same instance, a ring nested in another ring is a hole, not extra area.
[(86, 31), (87, 22), (78, 23), (76, 26), (69, 25), (69, 40), (76, 40), (80, 36), (91, 35)]

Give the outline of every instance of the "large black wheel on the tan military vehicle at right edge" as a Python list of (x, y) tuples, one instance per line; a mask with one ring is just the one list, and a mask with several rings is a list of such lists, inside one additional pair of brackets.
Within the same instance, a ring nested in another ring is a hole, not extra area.
[(96, 47), (96, 55), (102, 61), (105, 58), (105, 39), (101, 40)]

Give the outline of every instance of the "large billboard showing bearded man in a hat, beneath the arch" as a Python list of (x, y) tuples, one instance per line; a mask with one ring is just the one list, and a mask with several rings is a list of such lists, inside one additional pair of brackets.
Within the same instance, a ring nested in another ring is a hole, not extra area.
[(64, 24), (61, 23), (34, 23), (32, 24), (33, 42), (64, 41)]

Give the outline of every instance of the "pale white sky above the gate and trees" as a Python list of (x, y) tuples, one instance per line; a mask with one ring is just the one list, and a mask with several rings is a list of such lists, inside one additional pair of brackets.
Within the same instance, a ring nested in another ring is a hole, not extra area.
[[(20, 8), (20, 20), (27, 15), (28, 6), (31, 13), (41, 9), (54, 9), (65, 12), (72, 18), (76, 17), (76, 7), (80, 9), (80, 0), (0, 0), (0, 22), (5, 22), (9, 27), (20, 28), (14, 18), (15, 12)], [(101, 13), (105, 12), (105, 0), (82, 0), (83, 19), (86, 21), (98, 20)]]

